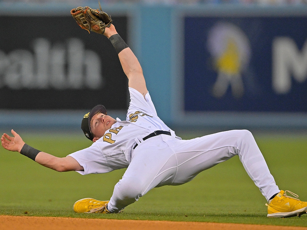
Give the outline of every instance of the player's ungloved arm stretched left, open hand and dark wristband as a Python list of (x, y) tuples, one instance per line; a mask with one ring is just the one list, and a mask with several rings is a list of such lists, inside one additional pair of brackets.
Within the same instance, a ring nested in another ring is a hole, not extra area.
[(36, 150), (25, 144), (22, 138), (13, 129), (11, 132), (13, 136), (9, 136), (6, 133), (2, 135), (1, 145), (3, 148), (10, 151), (17, 151), (35, 160), (37, 163), (59, 172), (84, 170), (71, 156), (61, 158)]

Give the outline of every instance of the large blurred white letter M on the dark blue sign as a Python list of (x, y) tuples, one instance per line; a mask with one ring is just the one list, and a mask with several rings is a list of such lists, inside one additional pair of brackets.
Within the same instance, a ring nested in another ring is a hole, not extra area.
[(278, 37), (272, 46), (272, 87), (278, 94), (291, 90), (291, 76), (298, 82), (307, 79), (307, 41), (301, 50), (289, 37)]

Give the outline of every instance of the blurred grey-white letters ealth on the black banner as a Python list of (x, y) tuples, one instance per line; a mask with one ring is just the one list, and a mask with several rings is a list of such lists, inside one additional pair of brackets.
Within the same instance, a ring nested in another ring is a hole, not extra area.
[(99, 89), (103, 85), (100, 57), (85, 50), (80, 39), (51, 44), (45, 38), (33, 41), (33, 52), (0, 50), (0, 88)]

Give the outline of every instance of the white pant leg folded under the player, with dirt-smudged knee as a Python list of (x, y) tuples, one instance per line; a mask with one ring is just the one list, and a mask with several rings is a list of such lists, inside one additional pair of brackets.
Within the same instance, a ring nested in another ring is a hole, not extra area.
[(145, 140), (134, 149), (126, 172), (114, 187), (108, 210), (117, 213), (138, 201), (159, 183), (172, 181), (176, 170), (174, 152), (161, 136)]

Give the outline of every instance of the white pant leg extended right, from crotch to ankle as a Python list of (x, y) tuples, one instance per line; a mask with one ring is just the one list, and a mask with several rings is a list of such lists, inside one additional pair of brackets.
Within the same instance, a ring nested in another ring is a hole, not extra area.
[(178, 161), (174, 185), (188, 182), (201, 171), (239, 155), (247, 174), (267, 200), (280, 191), (248, 130), (231, 130), (192, 140), (173, 140), (169, 145), (176, 152)]

